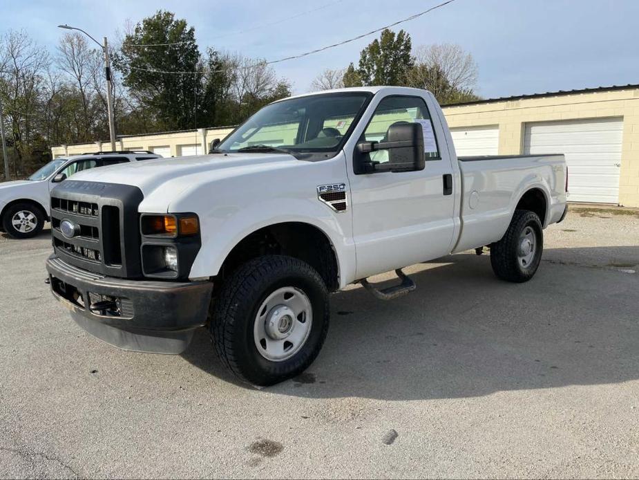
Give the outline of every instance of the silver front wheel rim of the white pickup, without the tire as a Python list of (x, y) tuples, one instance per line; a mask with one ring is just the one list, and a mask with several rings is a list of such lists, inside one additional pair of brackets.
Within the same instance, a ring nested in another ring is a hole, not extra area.
[(282, 362), (304, 346), (312, 324), (313, 308), (307, 295), (294, 286), (278, 288), (258, 308), (255, 346), (267, 360)]

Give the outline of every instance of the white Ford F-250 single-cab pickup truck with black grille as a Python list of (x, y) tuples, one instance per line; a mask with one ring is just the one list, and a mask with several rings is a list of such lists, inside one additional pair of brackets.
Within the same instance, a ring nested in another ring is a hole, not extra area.
[[(531, 279), (566, 214), (561, 155), (457, 158), (427, 91), (342, 89), (269, 104), (208, 155), (77, 174), (51, 195), (53, 294), (95, 337), (180, 353), (207, 326), (255, 385), (316, 358), (329, 293), (414, 289), (401, 268), (490, 246)], [(368, 277), (396, 270), (397, 286)]]

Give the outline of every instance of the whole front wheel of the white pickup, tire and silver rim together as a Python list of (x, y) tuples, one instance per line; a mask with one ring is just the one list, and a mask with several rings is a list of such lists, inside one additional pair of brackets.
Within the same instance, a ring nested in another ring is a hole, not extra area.
[(215, 299), (211, 340), (233, 373), (273, 385), (302, 373), (328, 331), (327, 288), (305, 262), (281, 255), (248, 261)]

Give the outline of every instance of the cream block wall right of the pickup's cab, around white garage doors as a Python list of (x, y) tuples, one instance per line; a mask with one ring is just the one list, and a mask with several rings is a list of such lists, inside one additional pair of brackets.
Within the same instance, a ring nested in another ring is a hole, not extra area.
[(522, 154), (527, 122), (623, 117), (619, 203), (639, 207), (639, 89), (444, 107), (448, 126), (499, 125), (499, 154)]

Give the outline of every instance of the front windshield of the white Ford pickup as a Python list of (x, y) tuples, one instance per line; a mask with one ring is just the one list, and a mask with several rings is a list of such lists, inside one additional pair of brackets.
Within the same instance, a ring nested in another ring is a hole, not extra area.
[(366, 92), (308, 95), (267, 105), (233, 131), (217, 151), (287, 151), (304, 160), (334, 156), (372, 98)]

